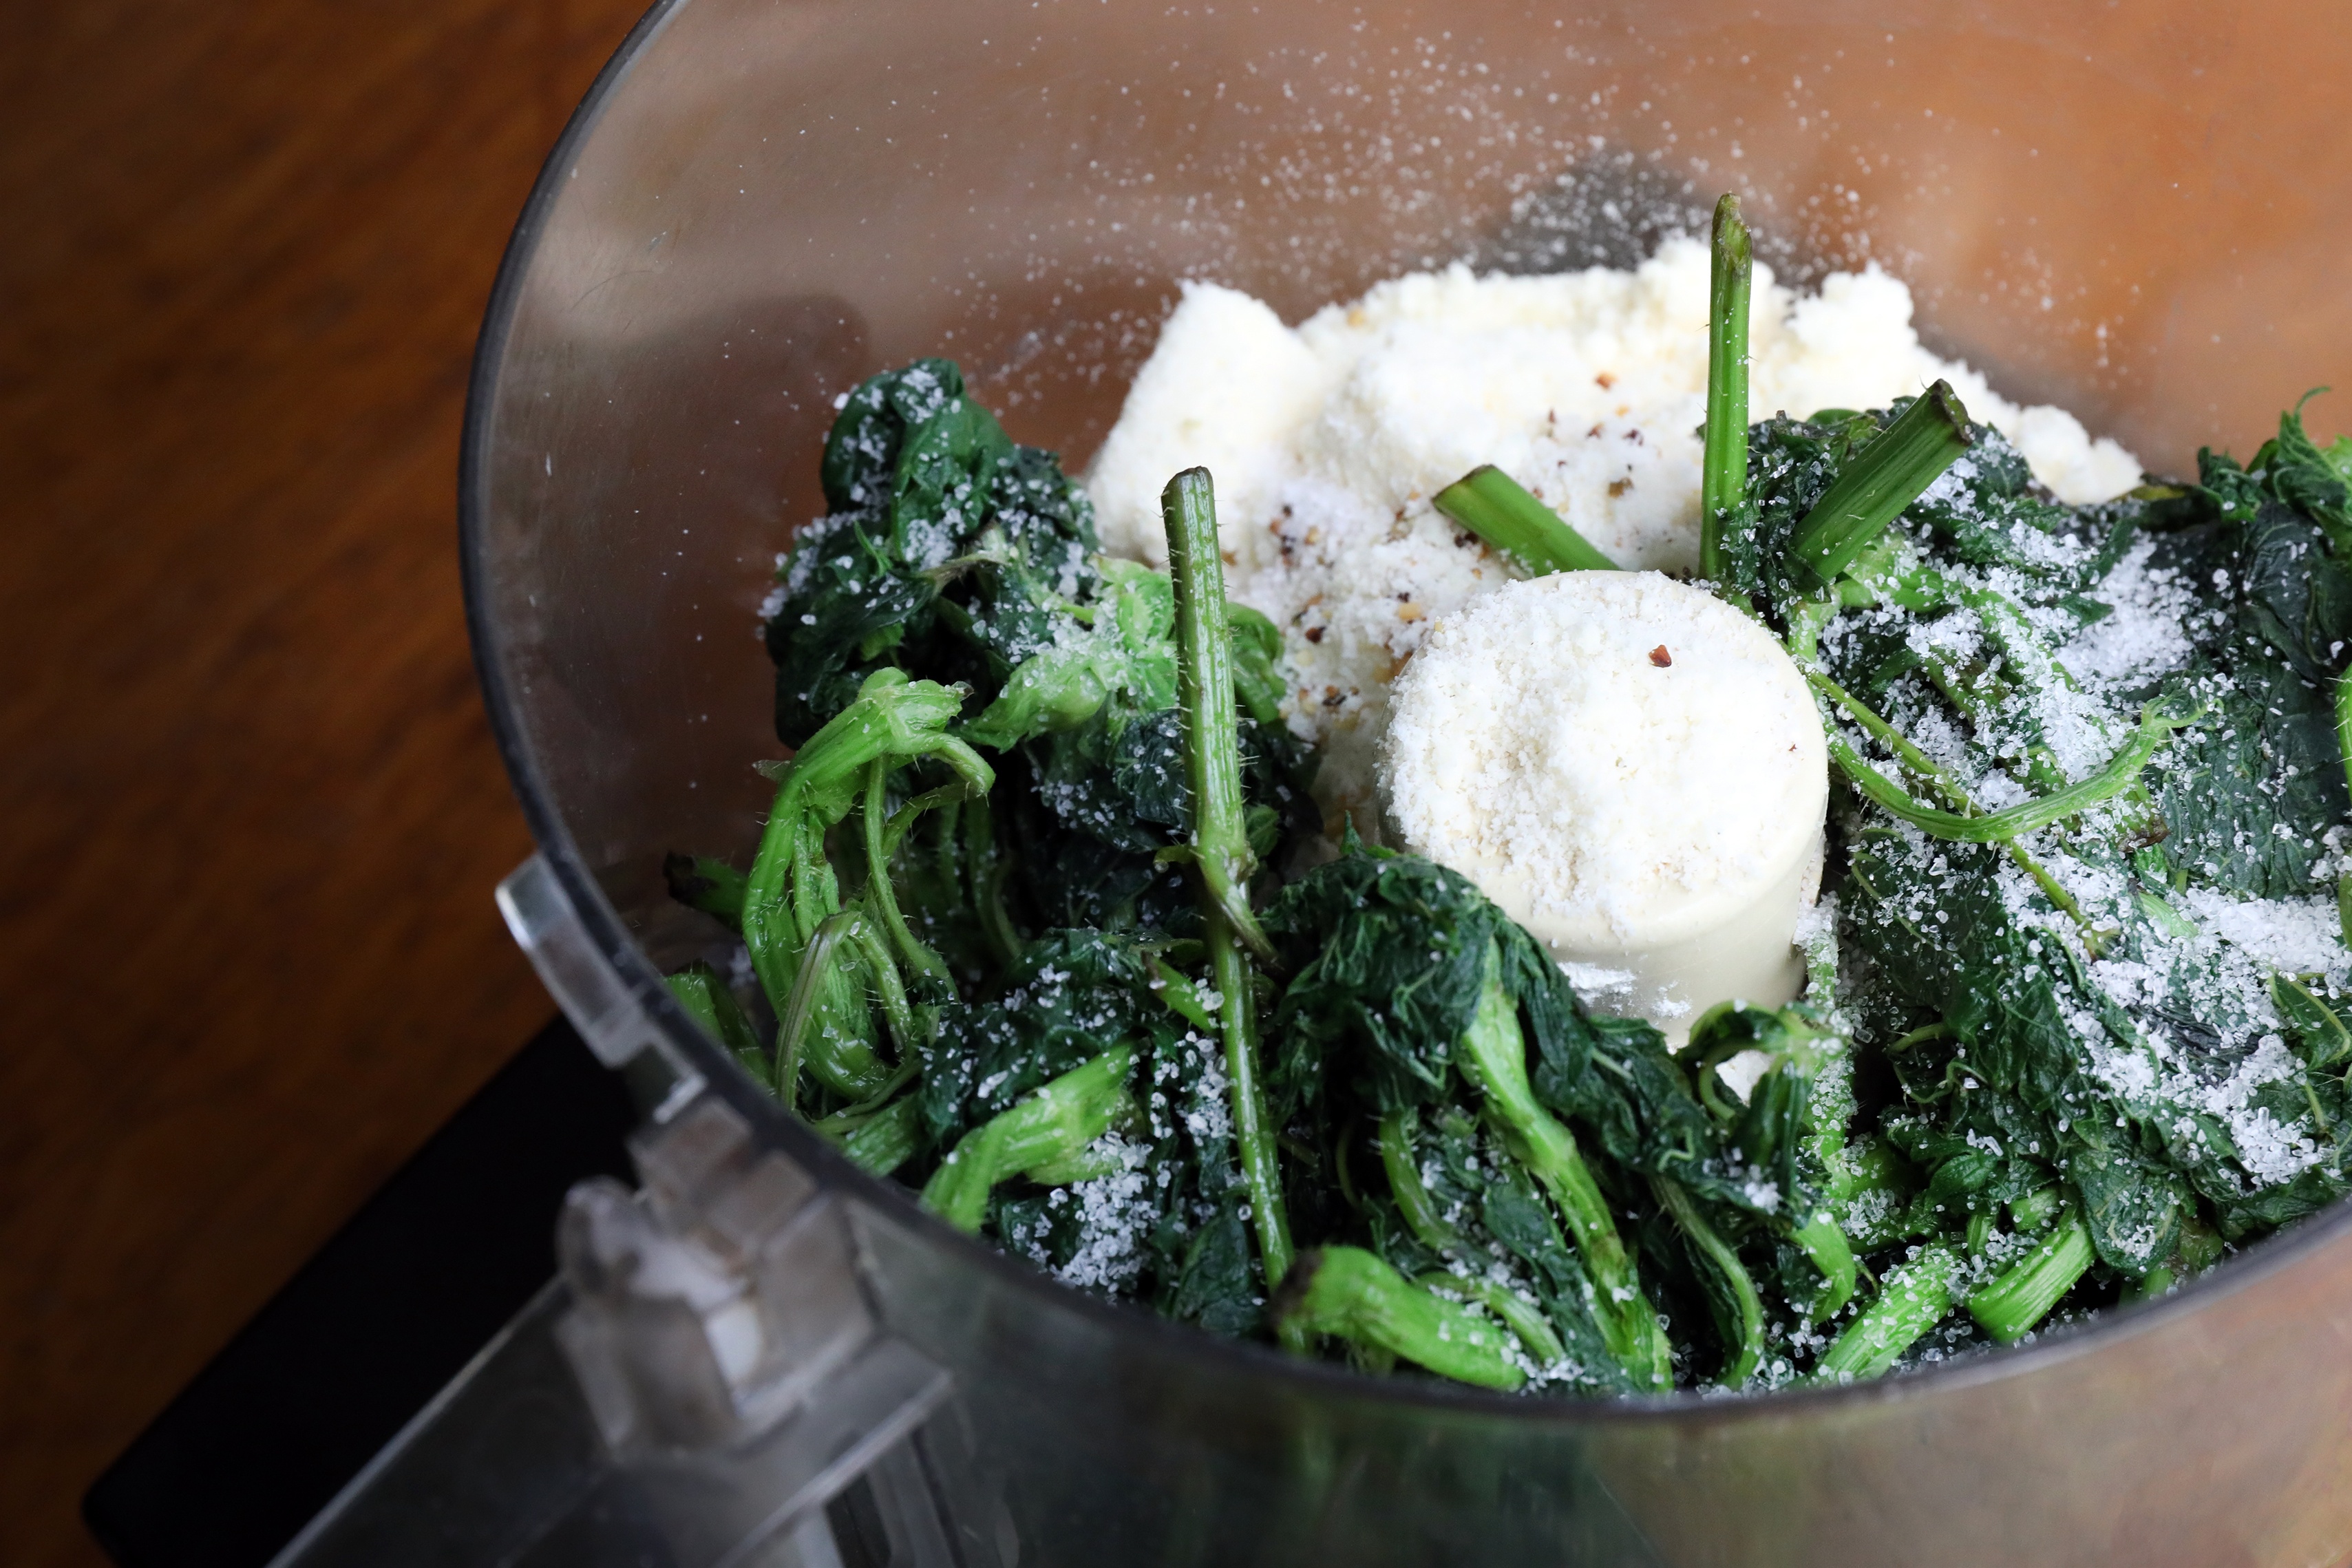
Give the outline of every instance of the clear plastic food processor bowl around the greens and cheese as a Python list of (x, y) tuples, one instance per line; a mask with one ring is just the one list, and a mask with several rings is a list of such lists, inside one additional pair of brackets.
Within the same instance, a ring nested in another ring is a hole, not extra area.
[[(1738, 190), (1783, 280), (1879, 263), (1912, 284), (1931, 348), (2183, 473), (2199, 444), (2258, 444), (2352, 348), (2352, 209), (2331, 200), (2352, 42), (2317, 9), (2305, 21), (2011, 0), (659, 5), (548, 162), (475, 369), (466, 583), (539, 837), (508, 914), (590, 1041), (663, 1100), (654, 1208), (684, 1213), (703, 1180), (677, 1173), (677, 1128), (699, 1126), (696, 1168), (767, 1171), (793, 1194), (776, 1213), (833, 1215), (856, 1281), (840, 1309), (920, 1373), (891, 1385), (898, 1403), (870, 1399), (882, 1427), (861, 1439), (844, 1415), (830, 1458), (790, 1481), (743, 1460), (762, 1418), (741, 1389), (717, 1425), (654, 1432), (670, 1363), (600, 1363), (595, 1335), (621, 1319), (583, 1309), (590, 1265), (642, 1206), (576, 1199), (569, 1284), (534, 1309), (572, 1328), (546, 1328), (562, 1356), (536, 1375), (586, 1380), (595, 1429), (475, 1429), (466, 1450), (496, 1450), (496, 1486), (480, 1465), (426, 1465), (487, 1399), (513, 1352), (494, 1347), (296, 1556), (362, 1561), (400, 1507), (412, 1523), (473, 1507), (508, 1514), (508, 1544), (435, 1526), (435, 1561), (607, 1561), (581, 1542), (623, 1535), (656, 1561), (818, 1561), (849, 1549), (809, 1521), (840, 1537), (844, 1476), (884, 1450), (920, 1472), (938, 1523), (915, 1544), (903, 1526), (873, 1537), (906, 1561), (2352, 1554), (2347, 1213), (2169, 1300), (1872, 1385), (1489, 1396), (1056, 1286), (830, 1154), (661, 987), (713, 938), (666, 898), (663, 853), (741, 860), (760, 835), (753, 762), (781, 750), (760, 604), (823, 510), (818, 447), (863, 376), (955, 357), (1016, 440), (1077, 468), (1178, 280), (1301, 320), (1449, 261), (1630, 266)], [(2312, 414), (2333, 425), (2326, 400)], [(821, 1260), (793, 1269), (807, 1281)], [(590, 1387), (595, 1366), (619, 1382)], [(576, 1500), (541, 1497), (529, 1455), (564, 1443), (564, 1465), (604, 1476), (604, 1535)], [(680, 1476), (703, 1450), (734, 1458), (691, 1493)], [(553, 1540), (555, 1519), (562, 1552), (515, 1544)]]

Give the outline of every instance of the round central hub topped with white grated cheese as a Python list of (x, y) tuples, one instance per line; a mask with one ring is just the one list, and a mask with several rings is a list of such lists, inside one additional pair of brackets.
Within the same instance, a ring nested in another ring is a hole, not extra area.
[[(1446, 616), (1397, 682), (1390, 837), (1677, 1034), (1797, 994), (1828, 748), (1755, 621), (1656, 571), (1564, 571)], [(1573, 971), (1571, 971), (1573, 973)]]

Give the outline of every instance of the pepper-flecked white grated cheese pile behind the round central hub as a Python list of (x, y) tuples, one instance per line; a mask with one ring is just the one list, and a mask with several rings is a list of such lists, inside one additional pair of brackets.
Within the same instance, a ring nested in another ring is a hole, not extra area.
[[(1875, 409), (1938, 376), (2063, 501), (2105, 501), (2140, 463), (2051, 407), (2020, 409), (1912, 329), (1910, 289), (1832, 273), (1795, 294), (1755, 270), (1750, 409)], [(1708, 247), (1668, 240), (1630, 273), (1477, 277), (1454, 266), (1284, 327), (1185, 284), (1087, 475), (1103, 545), (1162, 564), (1160, 489), (1216, 477), (1228, 590), (1282, 628), (1291, 729), (1324, 755), (1331, 827), (1374, 830), (1388, 686), (1435, 616), (1512, 571), (1430, 505), (1479, 463), (1548, 501), (1618, 567), (1698, 564)]]

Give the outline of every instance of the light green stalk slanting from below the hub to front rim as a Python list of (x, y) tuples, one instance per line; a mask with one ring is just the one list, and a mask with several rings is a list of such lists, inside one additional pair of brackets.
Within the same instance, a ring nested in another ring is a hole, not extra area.
[(1489, 952), (1486, 990), (1454, 1063), (1479, 1091), (1489, 1121), (1503, 1133), (1503, 1145), (1543, 1182), (1576, 1239), (1576, 1251), (1592, 1276), (1592, 1316), (1609, 1354), (1632, 1373), (1637, 1389), (1668, 1389), (1675, 1382), (1672, 1345), (1658, 1326), (1658, 1312), (1642, 1293), (1632, 1253), (1618, 1237), (1616, 1218), (1576, 1147), (1576, 1135), (1536, 1103), (1536, 1091), (1526, 1081), (1519, 1009), (1503, 990), (1498, 969), (1501, 959)]

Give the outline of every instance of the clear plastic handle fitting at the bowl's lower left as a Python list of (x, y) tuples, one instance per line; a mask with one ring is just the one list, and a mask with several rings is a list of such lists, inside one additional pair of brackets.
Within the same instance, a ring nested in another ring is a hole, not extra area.
[(917, 1434), (948, 1375), (877, 1324), (842, 1201), (708, 1095), (633, 1154), (642, 1192), (572, 1190), (562, 1279), (278, 1563), (955, 1566)]

